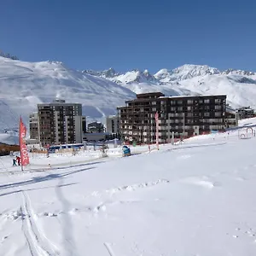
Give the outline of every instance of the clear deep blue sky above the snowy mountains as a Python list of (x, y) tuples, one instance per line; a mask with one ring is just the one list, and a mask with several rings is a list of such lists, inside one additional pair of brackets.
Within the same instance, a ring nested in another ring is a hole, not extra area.
[(256, 71), (255, 0), (2, 0), (0, 49), (75, 69)]

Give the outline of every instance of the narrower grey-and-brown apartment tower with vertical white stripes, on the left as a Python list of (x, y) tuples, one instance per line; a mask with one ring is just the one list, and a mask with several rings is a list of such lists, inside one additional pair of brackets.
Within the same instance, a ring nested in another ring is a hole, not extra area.
[(82, 143), (82, 105), (56, 99), (52, 103), (38, 104), (39, 140), (44, 145)]

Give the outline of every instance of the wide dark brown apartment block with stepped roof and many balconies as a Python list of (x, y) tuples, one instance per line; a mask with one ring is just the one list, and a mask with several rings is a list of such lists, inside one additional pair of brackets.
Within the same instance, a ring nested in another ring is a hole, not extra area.
[[(125, 141), (156, 142), (155, 113), (159, 113), (159, 141), (189, 137), (226, 128), (226, 96), (165, 96), (160, 92), (138, 94), (119, 107), (119, 130)], [(232, 116), (232, 118), (234, 118)], [(231, 125), (231, 123), (229, 122)]]

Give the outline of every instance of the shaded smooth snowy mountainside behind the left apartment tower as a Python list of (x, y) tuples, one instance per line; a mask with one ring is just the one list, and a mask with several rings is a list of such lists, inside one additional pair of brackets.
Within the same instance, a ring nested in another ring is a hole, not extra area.
[(65, 67), (61, 62), (23, 62), (0, 57), (0, 129), (14, 128), (41, 102), (59, 96), (83, 104), (84, 115), (101, 120), (134, 97), (131, 90), (107, 79)]

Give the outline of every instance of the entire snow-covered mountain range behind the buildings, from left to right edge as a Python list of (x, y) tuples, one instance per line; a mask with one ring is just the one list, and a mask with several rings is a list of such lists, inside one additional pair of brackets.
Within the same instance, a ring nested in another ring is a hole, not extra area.
[[(166, 96), (226, 94), (234, 108), (256, 108), (256, 74), (199, 65), (183, 65), (155, 74), (137, 69), (118, 73), (66, 67), (57, 61), (25, 62), (0, 57), (0, 130), (17, 129), (19, 116), (28, 115), (41, 102), (58, 96), (83, 104), (90, 120), (104, 121), (136, 93), (161, 91)], [(1, 133), (1, 131), (0, 131)]]

